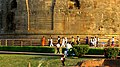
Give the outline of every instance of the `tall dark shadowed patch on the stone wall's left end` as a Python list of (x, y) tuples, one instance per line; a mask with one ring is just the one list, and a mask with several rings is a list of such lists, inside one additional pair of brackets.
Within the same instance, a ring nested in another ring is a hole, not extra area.
[(7, 16), (6, 16), (6, 32), (15, 32), (16, 29), (16, 23), (15, 20), (15, 11), (17, 8), (17, 2), (16, 0), (12, 0), (10, 3), (10, 6), (7, 8), (10, 8), (8, 10)]

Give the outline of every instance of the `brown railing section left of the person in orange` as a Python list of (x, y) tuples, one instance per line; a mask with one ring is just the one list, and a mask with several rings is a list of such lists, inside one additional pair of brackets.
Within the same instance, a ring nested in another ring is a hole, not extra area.
[(39, 46), (41, 39), (0, 39), (0, 46)]

